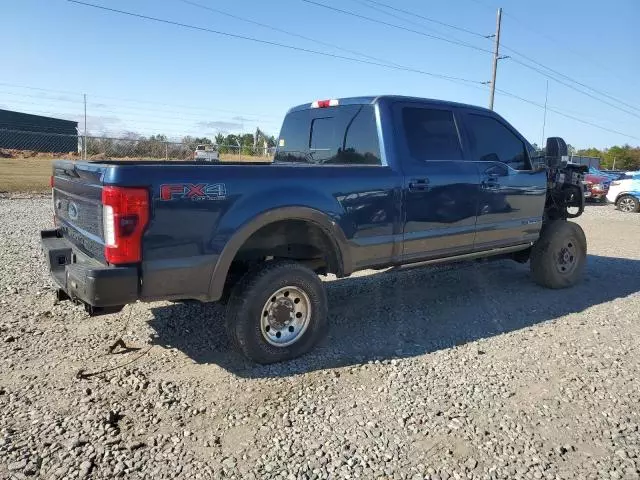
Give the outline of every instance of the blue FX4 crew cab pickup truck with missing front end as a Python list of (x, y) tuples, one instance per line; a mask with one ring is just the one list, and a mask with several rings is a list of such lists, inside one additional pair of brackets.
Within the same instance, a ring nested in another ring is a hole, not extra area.
[(586, 260), (586, 167), (540, 155), (496, 113), (401, 96), (321, 100), (286, 115), (271, 164), (57, 161), (41, 232), (60, 300), (91, 315), (153, 300), (227, 304), (260, 363), (328, 327), (318, 275), (478, 258), (530, 262), (550, 288)]

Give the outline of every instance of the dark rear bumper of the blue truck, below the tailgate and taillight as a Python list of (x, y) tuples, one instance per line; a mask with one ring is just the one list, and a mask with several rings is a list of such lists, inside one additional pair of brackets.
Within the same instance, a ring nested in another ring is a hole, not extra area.
[(58, 230), (42, 230), (40, 237), (51, 276), (71, 300), (117, 310), (138, 299), (137, 267), (104, 266), (74, 249)]

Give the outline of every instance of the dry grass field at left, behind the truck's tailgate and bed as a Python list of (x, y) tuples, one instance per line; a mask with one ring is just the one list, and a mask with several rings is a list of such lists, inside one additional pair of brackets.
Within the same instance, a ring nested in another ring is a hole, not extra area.
[[(46, 192), (51, 176), (51, 157), (0, 158), (0, 193), (2, 192)], [(133, 159), (127, 159), (133, 160)], [(221, 156), (222, 162), (231, 161), (270, 162), (266, 157)]]

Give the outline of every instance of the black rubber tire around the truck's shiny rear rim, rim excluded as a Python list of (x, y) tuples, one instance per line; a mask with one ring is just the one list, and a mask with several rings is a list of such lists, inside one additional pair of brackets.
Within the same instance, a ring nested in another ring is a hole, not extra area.
[[(295, 343), (275, 346), (262, 332), (265, 303), (284, 287), (295, 287), (308, 297), (310, 316)], [(327, 295), (318, 275), (292, 261), (272, 261), (250, 270), (231, 291), (227, 304), (227, 333), (250, 360), (269, 364), (299, 357), (311, 350), (328, 329)]]

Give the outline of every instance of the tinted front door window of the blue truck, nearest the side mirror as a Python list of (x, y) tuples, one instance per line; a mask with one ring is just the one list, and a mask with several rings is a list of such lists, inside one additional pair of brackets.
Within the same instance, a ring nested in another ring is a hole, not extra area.
[(524, 143), (495, 118), (467, 116), (469, 141), (474, 160), (502, 162), (516, 170), (530, 170)]

